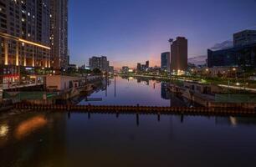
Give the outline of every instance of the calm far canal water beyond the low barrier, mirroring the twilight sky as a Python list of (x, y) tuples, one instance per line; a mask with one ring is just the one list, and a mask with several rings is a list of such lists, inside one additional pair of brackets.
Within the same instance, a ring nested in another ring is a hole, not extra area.
[(102, 86), (79, 104), (191, 106), (186, 99), (171, 94), (168, 82), (149, 78), (115, 77), (103, 80)]

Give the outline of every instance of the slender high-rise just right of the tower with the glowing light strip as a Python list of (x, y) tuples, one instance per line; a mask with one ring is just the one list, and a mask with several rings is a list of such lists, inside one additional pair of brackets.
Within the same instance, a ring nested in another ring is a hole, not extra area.
[(50, 0), (51, 55), (54, 69), (66, 69), (69, 65), (68, 50), (68, 0)]

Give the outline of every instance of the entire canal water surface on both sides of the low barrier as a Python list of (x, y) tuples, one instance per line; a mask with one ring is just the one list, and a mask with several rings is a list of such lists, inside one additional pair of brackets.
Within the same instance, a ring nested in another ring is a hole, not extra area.
[[(161, 91), (162, 83), (118, 79), (116, 88), (110, 80), (107, 93), (103, 87), (87, 100), (102, 98), (102, 101), (90, 101), (95, 104), (114, 103), (110, 99), (115, 99), (115, 104), (147, 104), (138, 98), (143, 97), (151, 105), (187, 105), (182, 99), (165, 95)], [(131, 85), (140, 89), (133, 91)], [(131, 94), (136, 100), (122, 97)], [(85, 103), (89, 102), (84, 99), (80, 102)], [(0, 114), (1, 167), (238, 167), (253, 166), (255, 162), (256, 118), (253, 117)]]

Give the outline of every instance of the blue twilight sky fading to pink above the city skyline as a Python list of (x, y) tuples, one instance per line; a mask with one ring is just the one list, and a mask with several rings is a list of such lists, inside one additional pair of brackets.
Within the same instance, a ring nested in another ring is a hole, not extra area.
[(169, 38), (188, 39), (188, 57), (256, 29), (256, 0), (69, 0), (70, 63), (104, 55), (115, 68), (160, 65)]

